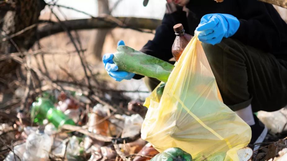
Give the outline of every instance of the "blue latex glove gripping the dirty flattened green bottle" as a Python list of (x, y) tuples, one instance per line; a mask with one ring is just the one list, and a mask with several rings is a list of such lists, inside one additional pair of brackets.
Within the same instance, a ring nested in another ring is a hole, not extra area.
[[(118, 46), (120, 45), (125, 45), (123, 40), (120, 40), (118, 42)], [(105, 66), (105, 70), (108, 72), (108, 74), (116, 81), (122, 81), (124, 79), (126, 80), (132, 79), (132, 77), (135, 74), (125, 71), (118, 71), (119, 67), (116, 64), (114, 64), (113, 57), (114, 54), (105, 54), (103, 56), (103, 63)]]

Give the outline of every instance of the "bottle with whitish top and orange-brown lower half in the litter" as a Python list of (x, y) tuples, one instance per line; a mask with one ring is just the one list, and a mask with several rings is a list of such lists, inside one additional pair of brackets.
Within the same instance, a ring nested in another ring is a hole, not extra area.
[(107, 110), (108, 109), (105, 108), (102, 104), (97, 104), (93, 108), (87, 123), (88, 130), (90, 132), (107, 136), (109, 122), (108, 120), (104, 120), (104, 118), (107, 116)]

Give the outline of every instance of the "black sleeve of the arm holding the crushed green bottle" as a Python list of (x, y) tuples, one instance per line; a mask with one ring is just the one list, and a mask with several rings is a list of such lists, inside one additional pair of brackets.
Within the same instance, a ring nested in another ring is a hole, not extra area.
[[(150, 40), (140, 50), (141, 52), (154, 56), (156, 58), (168, 61), (173, 57), (171, 49), (175, 34), (173, 26), (181, 23), (184, 28), (188, 28), (186, 20), (186, 12), (182, 11), (182, 7), (167, 3), (166, 13), (161, 25), (155, 31), (155, 37)], [(141, 79), (144, 76), (135, 75), (134, 79)]]

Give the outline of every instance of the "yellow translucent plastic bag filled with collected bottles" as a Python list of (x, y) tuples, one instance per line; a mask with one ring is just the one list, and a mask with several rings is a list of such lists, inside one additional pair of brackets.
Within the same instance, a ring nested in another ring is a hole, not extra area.
[(155, 89), (144, 106), (141, 137), (159, 152), (178, 147), (194, 161), (236, 161), (236, 151), (251, 139), (249, 125), (222, 102), (197, 35), (175, 64), (161, 100)]

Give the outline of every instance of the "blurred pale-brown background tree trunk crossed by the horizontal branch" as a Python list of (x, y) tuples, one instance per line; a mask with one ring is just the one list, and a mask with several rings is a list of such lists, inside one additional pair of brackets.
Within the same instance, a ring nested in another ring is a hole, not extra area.
[[(98, 15), (110, 15), (108, 0), (98, 0)], [(101, 61), (105, 37), (109, 32), (110, 29), (98, 29), (92, 34), (90, 38), (87, 52), (93, 53), (96, 60)]]

